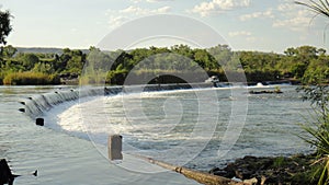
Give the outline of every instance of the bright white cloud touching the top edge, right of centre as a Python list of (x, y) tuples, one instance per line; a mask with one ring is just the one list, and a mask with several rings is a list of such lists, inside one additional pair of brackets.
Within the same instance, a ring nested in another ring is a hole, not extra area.
[(245, 8), (250, 5), (250, 0), (212, 0), (202, 2), (193, 8), (191, 12), (198, 13), (201, 16), (222, 13), (236, 8)]

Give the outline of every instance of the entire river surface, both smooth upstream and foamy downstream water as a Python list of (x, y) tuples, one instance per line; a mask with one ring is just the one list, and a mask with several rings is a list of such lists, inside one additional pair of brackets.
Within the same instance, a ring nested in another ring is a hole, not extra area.
[[(98, 94), (29, 115), (18, 111), (25, 107), (19, 102), (79, 86), (0, 86), (0, 157), (23, 174), (15, 184), (193, 184), (170, 172), (146, 172), (148, 164), (109, 162), (109, 135), (123, 136), (128, 159), (144, 155), (201, 171), (245, 155), (310, 152), (296, 136), (309, 103), (296, 86), (280, 88), (283, 94), (247, 93), (266, 86)], [(45, 127), (35, 126), (37, 116)], [(24, 175), (34, 170), (39, 176)]]

